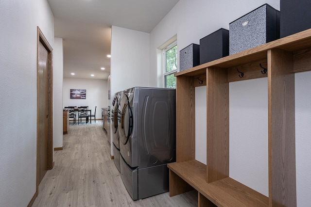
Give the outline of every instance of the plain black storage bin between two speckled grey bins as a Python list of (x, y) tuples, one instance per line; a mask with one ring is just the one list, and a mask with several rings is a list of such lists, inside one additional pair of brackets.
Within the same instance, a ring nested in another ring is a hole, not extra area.
[(200, 39), (200, 64), (229, 55), (229, 31), (221, 28)]

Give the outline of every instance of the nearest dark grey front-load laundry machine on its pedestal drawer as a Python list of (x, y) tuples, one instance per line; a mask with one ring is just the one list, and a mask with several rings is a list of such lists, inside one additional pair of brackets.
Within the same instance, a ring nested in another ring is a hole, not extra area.
[(119, 104), (121, 177), (133, 200), (169, 191), (176, 159), (175, 89), (134, 87)]

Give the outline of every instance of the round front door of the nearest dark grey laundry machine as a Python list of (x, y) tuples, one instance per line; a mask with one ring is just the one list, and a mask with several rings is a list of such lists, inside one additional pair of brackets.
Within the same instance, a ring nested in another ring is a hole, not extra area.
[(122, 144), (126, 144), (130, 138), (130, 135), (133, 131), (133, 114), (129, 103), (129, 98), (127, 95), (124, 95), (120, 101), (120, 120), (118, 117), (118, 125), (120, 128), (119, 134), (120, 134), (120, 142)]

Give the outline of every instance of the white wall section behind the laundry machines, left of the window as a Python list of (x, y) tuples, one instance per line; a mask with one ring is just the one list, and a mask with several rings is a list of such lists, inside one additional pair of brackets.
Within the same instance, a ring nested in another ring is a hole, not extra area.
[[(149, 33), (112, 26), (111, 101), (114, 94), (119, 91), (135, 86), (151, 86), (149, 80), (149, 36)], [(110, 139), (112, 143), (112, 134)], [(112, 145), (111, 155), (113, 155)]]

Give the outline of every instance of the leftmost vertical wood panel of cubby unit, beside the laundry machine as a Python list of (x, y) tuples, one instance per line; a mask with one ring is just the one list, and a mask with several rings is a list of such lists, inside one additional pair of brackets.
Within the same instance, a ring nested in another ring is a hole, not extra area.
[(190, 76), (176, 77), (176, 162), (195, 159), (195, 93)]

